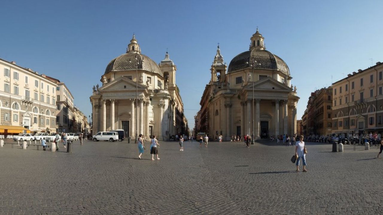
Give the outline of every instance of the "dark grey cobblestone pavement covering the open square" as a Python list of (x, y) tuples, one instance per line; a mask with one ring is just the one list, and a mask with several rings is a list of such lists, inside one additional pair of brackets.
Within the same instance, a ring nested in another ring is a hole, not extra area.
[[(309, 172), (295, 148), (270, 142), (85, 142), (73, 153), (0, 148), (0, 214), (383, 214), (383, 159), (346, 145), (306, 143)], [(64, 148), (60, 147), (60, 150)]]

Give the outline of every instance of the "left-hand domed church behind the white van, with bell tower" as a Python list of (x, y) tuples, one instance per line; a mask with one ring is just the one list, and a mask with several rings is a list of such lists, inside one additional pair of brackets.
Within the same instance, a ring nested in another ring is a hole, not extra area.
[(159, 64), (146, 55), (135, 35), (126, 53), (111, 60), (101, 76), (102, 85), (93, 86), (92, 133), (123, 129), (125, 137), (187, 134), (183, 103), (175, 83), (177, 67), (166, 52)]

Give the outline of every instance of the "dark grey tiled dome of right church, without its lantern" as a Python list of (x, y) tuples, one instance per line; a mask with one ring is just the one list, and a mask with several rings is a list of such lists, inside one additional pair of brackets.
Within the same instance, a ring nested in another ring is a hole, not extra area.
[(231, 60), (229, 64), (228, 73), (251, 68), (250, 64), (246, 64), (247, 60), (250, 59), (250, 56), (254, 57), (255, 60), (257, 60), (257, 62), (260, 64), (255, 65), (255, 69), (278, 70), (285, 75), (290, 76), (290, 70), (287, 64), (277, 55), (274, 55), (264, 49), (253, 49), (251, 51), (242, 52), (241, 54), (237, 55)]

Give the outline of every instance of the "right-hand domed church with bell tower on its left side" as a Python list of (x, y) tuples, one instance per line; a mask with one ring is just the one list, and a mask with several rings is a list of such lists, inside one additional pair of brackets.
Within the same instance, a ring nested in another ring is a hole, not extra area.
[(264, 39), (257, 28), (249, 50), (234, 57), (228, 68), (218, 46), (196, 116), (198, 132), (226, 140), (232, 135), (243, 139), (253, 131), (255, 139), (296, 134), (296, 87), (290, 85), (287, 64), (266, 50)]

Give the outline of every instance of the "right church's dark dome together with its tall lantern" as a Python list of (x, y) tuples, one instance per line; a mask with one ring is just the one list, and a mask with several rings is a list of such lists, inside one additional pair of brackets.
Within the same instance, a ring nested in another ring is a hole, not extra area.
[[(250, 38), (250, 50), (242, 52), (241, 54), (234, 57), (228, 68), (228, 73), (236, 72), (238, 70), (243, 70), (246, 68), (252, 68), (250, 66), (250, 59), (254, 59), (257, 63), (254, 65), (255, 69), (259, 70), (277, 70), (282, 72), (285, 75), (290, 76), (290, 70), (280, 57), (271, 52), (265, 50), (264, 37), (259, 33), (258, 28), (257, 32), (253, 34)], [(249, 64), (246, 62), (249, 61)]]

